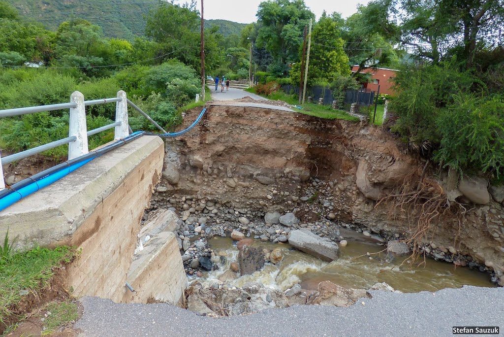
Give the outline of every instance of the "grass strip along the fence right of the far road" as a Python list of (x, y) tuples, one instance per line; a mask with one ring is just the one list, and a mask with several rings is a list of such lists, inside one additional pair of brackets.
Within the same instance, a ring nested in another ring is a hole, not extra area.
[[(245, 89), (245, 91), (257, 94), (255, 88), (248, 88), (248, 89)], [(291, 104), (291, 105), (301, 106), (302, 109), (296, 108), (295, 110), (296, 110), (296, 112), (304, 114), (304, 115), (328, 119), (328, 120), (345, 120), (345, 121), (355, 121), (355, 122), (359, 121), (359, 119), (357, 117), (350, 116), (346, 113), (346, 111), (343, 111), (343, 110), (335, 110), (330, 105), (319, 105), (319, 104), (314, 104), (314, 103), (304, 103), (304, 104), (299, 105), (298, 98), (296, 95), (287, 95), (283, 92), (277, 91), (277, 92), (272, 93), (269, 96), (266, 96), (266, 95), (260, 95), (260, 96), (271, 99), (271, 100), (281, 100), (281, 101), (284, 101), (284, 102)]]

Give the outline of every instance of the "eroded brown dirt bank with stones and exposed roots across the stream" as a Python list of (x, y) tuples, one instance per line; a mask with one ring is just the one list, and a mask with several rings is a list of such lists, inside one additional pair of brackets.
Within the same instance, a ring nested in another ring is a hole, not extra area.
[[(185, 124), (199, 113), (189, 111)], [(244, 210), (226, 214), (235, 220), (278, 211), (301, 224), (351, 223), (420, 254), (494, 271), (502, 286), (503, 192), (473, 177), (456, 188), (457, 180), (366, 124), (211, 106), (192, 132), (167, 141), (151, 209), (174, 207), (185, 218), (203, 212), (207, 226), (224, 208)]]

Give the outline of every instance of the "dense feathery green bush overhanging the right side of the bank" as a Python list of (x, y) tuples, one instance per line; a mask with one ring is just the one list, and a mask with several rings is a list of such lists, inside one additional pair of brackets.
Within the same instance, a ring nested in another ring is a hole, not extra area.
[(504, 98), (451, 63), (404, 68), (389, 108), (392, 130), (411, 147), (459, 172), (504, 174)]

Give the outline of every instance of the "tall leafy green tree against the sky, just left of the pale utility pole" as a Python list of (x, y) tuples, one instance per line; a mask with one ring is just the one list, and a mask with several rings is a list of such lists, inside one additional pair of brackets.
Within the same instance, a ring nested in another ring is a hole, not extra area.
[(314, 14), (303, 0), (265, 1), (259, 5), (256, 44), (273, 56), (276, 68), (298, 59), (304, 26)]

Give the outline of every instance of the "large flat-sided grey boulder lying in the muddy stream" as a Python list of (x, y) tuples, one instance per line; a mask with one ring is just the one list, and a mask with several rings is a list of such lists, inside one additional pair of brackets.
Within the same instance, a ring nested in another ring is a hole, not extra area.
[(325, 261), (338, 258), (338, 245), (335, 242), (321, 238), (307, 229), (292, 231), (289, 235), (289, 244)]

